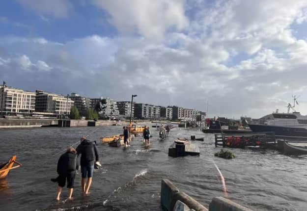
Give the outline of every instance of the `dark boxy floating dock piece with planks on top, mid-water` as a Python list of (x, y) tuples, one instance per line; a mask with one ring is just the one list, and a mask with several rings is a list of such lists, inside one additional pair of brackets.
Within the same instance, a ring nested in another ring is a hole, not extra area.
[(168, 148), (168, 156), (176, 158), (183, 156), (198, 156), (200, 154), (199, 148), (186, 139), (178, 139)]

